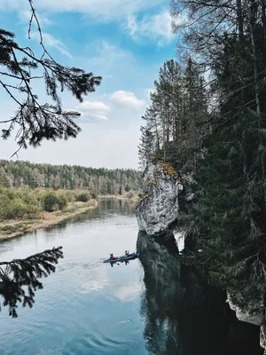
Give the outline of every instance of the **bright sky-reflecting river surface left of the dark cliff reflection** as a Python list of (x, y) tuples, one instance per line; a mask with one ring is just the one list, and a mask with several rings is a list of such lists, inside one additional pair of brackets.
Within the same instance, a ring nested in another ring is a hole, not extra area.
[(44, 280), (32, 309), (0, 313), (2, 355), (145, 354), (139, 260), (111, 267), (109, 253), (136, 250), (134, 203), (101, 201), (97, 209), (46, 231), (0, 244), (1, 260), (63, 246), (57, 272)]

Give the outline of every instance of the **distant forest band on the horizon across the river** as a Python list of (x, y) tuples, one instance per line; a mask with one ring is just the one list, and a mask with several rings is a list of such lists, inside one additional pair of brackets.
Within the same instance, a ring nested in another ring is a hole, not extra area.
[(123, 194), (138, 191), (140, 172), (137, 170), (93, 169), (82, 166), (35, 164), (0, 160), (0, 187), (53, 189), (88, 188), (90, 193)]

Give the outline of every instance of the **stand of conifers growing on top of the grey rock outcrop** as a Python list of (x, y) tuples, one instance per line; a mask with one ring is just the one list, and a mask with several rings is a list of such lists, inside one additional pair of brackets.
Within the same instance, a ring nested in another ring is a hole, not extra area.
[(146, 109), (145, 124), (140, 129), (141, 168), (152, 160), (174, 163), (178, 170), (195, 170), (200, 138), (206, 132), (209, 116), (207, 91), (199, 66), (191, 58), (185, 69), (173, 59), (167, 60), (154, 84), (152, 105)]

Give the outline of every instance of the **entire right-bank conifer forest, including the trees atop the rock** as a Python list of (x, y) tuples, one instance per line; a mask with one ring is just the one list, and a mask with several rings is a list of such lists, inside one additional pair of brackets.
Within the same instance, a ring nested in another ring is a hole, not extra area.
[(181, 176), (186, 261), (235, 304), (265, 306), (266, 2), (171, 0), (170, 11), (176, 59), (154, 82), (141, 166), (171, 162)]

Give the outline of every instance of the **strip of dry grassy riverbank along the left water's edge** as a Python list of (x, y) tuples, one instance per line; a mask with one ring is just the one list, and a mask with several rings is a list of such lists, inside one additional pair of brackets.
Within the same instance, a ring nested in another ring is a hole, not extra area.
[(90, 200), (89, 202), (73, 202), (69, 203), (66, 209), (55, 212), (43, 212), (40, 218), (28, 220), (8, 220), (0, 222), (0, 241), (15, 238), (24, 233), (34, 232), (37, 229), (58, 225), (71, 217), (80, 215), (88, 209), (94, 209), (98, 205), (98, 201)]

